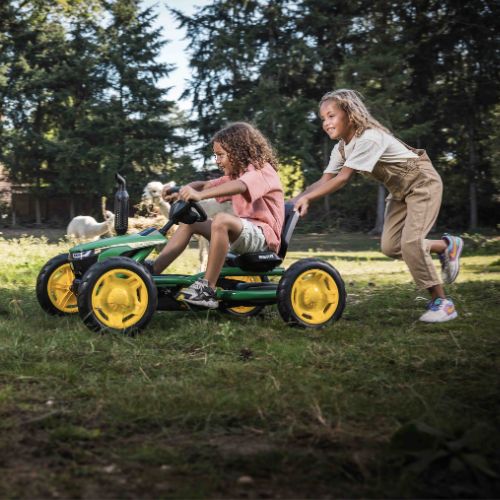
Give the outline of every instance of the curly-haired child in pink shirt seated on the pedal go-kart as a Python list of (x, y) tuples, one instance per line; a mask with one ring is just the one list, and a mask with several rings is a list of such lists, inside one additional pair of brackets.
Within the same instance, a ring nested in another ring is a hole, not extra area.
[[(159, 274), (187, 247), (193, 234), (210, 240), (205, 278), (180, 291), (178, 298), (190, 304), (218, 307), (215, 286), (228, 247), (234, 253), (277, 252), (285, 218), (283, 188), (277, 173), (278, 162), (262, 133), (248, 123), (237, 122), (217, 132), (213, 151), (222, 177), (195, 181), (179, 191), (182, 200), (215, 198), (232, 201), (235, 215), (218, 213), (212, 220), (180, 224), (153, 263)], [(168, 195), (168, 192), (165, 193)]]

